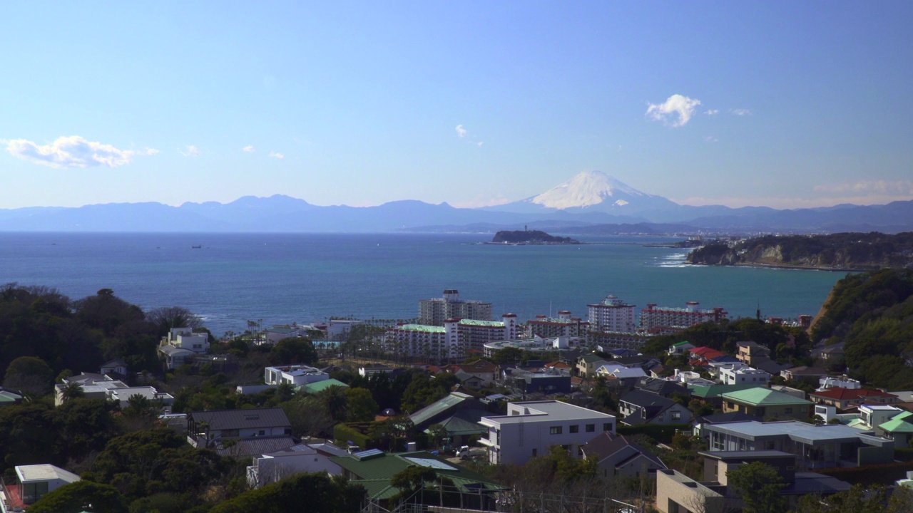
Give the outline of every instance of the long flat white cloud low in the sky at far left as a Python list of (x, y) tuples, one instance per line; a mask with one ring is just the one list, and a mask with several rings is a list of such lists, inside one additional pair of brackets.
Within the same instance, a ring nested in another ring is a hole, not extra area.
[(136, 155), (151, 156), (159, 152), (152, 148), (119, 150), (110, 144), (86, 141), (78, 135), (58, 137), (57, 141), (44, 146), (25, 139), (5, 141), (5, 143), (6, 151), (20, 159), (58, 169), (100, 165), (118, 167), (130, 163)]

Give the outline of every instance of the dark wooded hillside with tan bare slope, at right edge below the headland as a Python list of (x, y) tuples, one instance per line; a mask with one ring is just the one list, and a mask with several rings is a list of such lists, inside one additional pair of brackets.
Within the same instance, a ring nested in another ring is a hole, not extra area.
[(888, 390), (913, 389), (913, 269), (847, 276), (834, 285), (815, 319), (813, 340), (845, 342), (856, 378)]

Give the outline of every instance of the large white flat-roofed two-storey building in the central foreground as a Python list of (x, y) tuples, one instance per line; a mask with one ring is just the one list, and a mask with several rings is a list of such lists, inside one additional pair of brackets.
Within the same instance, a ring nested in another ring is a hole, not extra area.
[(523, 465), (531, 457), (548, 454), (561, 445), (573, 457), (596, 434), (615, 434), (615, 417), (559, 401), (508, 403), (508, 414), (482, 417), (488, 428), (479, 443), (488, 446), (492, 464)]

